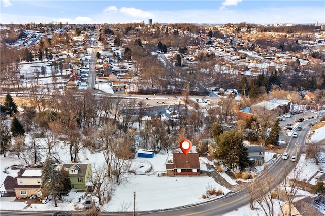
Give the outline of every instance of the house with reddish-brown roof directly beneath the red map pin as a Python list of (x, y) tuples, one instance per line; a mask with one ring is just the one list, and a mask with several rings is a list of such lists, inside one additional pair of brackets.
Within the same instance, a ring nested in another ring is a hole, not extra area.
[(174, 153), (173, 161), (166, 163), (167, 176), (200, 175), (199, 153)]

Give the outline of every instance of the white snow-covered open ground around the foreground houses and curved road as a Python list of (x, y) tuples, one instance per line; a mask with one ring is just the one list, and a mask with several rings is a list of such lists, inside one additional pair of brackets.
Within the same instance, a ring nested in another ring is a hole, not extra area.
[[(315, 130), (315, 134), (311, 137), (310, 141), (319, 140), (324, 138), (325, 127), (321, 127)], [(265, 155), (266, 161), (273, 161), (274, 153), (267, 153)], [(146, 175), (135, 175), (133, 173), (127, 174), (127, 181), (124, 181), (114, 191), (112, 200), (105, 204), (102, 208), (103, 211), (132, 211), (133, 210), (133, 193), (136, 193), (136, 210), (154, 210), (165, 209), (178, 206), (186, 206), (190, 204), (196, 204), (205, 202), (208, 199), (202, 199), (202, 195), (205, 194), (206, 187), (208, 185), (214, 187), (216, 190), (221, 189), (223, 193), (227, 193), (230, 190), (219, 185), (210, 177), (163, 177), (158, 176), (159, 173), (165, 171), (165, 162), (171, 157), (169, 154), (156, 154), (153, 158), (135, 158), (134, 161), (141, 163), (145, 160), (150, 162), (152, 170)], [(88, 159), (87, 159), (88, 158)], [(64, 162), (69, 162), (69, 157), (63, 159)], [(90, 154), (84, 152), (81, 154), (81, 160), (83, 163), (99, 164), (103, 160), (103, 154)], [(0, 156), (1, 168), (11, 166), (13, 164), (24, 164), (22, 160), (17, 159), (14, 156), (8, 156), (6, 158)], [(201, 163), (211, 163), (206, 158), (200, 158)], [(303, 166), (302, 178), (311, 178), (317, 171), (322, 170), (323, 167), (315, 166), (311, 161), (305, 160), (305, 155), (301, 155), (297, 166)], [(262, 167), (261, 167), (262, 169)], [(9, 175), (16, 175), (16, 171), (9, 169)], [(1, 172), (0, 179), (3, 182), (7, 174)], [(231, 184), (237, 184), (225, 173), (222, 176)], [(315, 180), (312, 179), (311, 184), (315, 184)], [(301, 195), (309, 195), (305, 192), (299, 192)], [(28, 208), (25, 202), (14, 202), (13, 199), (0, 198), (0, 209), (17, 209), (26, 211), (35, 210), (82, 210), (84, 207), (84, 199), (79, 202), (78, 198), (84, 193), (70, 192), (68, 197), (65, 197), (63, 201), (59, 201), (59, 208), (55, 208), (52, 201), (47, 204), (32, 204)], [(222, 196), (222, 195), (221, 195)], [(215, 199), (213, 197), (212, 199)], [(278, 205), (275, 206), (276, 211), (279, 212)], [(230, 215), (263, 215), (261, 209), (251, 210), (249, 205), (243, 206), (234, 212), (225, 214)]]

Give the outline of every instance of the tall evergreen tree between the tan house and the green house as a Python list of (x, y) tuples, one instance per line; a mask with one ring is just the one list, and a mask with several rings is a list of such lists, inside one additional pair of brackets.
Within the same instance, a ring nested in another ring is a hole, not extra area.
[[(56, 169), (56, 167), (57, 165), (53, 160), (49, 159), (48, 157), (45, 159), (42, 168), (41, 189), (43, 196), (48, 196), (50, 194), (52, 195), (55, 207), (57, 207), (56, 198), (68, 195), (71, 190), (71, 183), (68, 175), (64, 175), (62, 170), (59, 171)], [(70, 188), (68, 188), (69, 183)]]

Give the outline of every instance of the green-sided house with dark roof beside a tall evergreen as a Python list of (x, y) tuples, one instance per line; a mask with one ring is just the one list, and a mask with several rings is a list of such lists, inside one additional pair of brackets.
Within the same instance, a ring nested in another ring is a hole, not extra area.
[(92, 174), (91, 164), (63, 164), (63, 169), (68, 173), (72, 190), (86, 190), (92, 188), (92, 184), (88, 182)]

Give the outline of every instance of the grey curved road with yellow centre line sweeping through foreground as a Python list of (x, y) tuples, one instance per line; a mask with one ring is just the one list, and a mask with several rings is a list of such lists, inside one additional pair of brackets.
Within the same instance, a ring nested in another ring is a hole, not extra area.
[[(310, 132), (310, 126), (308, 125), (311, 121), (305, 120), (300, 123), (302, 130), (298, 132), (298, 137), (290, 137), (286, 152), (289, 153), (289, 158), (293, 155), (297, 155), (297, 160), (299, 160), (300, 153), (305, 149), (305, 140)], [(293, 131), (295, 132), (295, 130)], [(297, 145), (296, 145), (297, 144)], [(299, 144), (299, 146), (298, 146)], [(269, 181), (271, 182), (271, 188), (275, 188), (277, 185), (281, 184), (283, 178), (294, 169), (296, 162), (288, 160), (279, 159), (276, 163), (268, 169)], [(265, 173), (261, 177), (255, 179), (255, 183), (258, 181), (265, 181)], [(246, 188), (224, 196), (223, 198), (212, 200), (210, 202), (205, 202), (199, 205), (193, 205), (189, 207), (180, 207), (177, 209), (169, 209), (154, 212), (137, 212), (136, 215), (222, 215), (225, 213), (236, 211), (238, 208), (248, 204), (250, 202), (250, 187)], [(7, 211), (1, 210), (1, 215), (24, 215), (26, 211)], [(34, 212), (33, 212), (34, 213)], [(51, 212), (35, 212), (35, 215), (50, 215)], [(83, 215), (85, 212), (76, 212), (74, 215)], [(235, 213), (235, 212), (234, 212)], [(102, 212), (101, 215), (133, 215), (130, 212), (120, 212), (120, 213), (110, 213)]]

